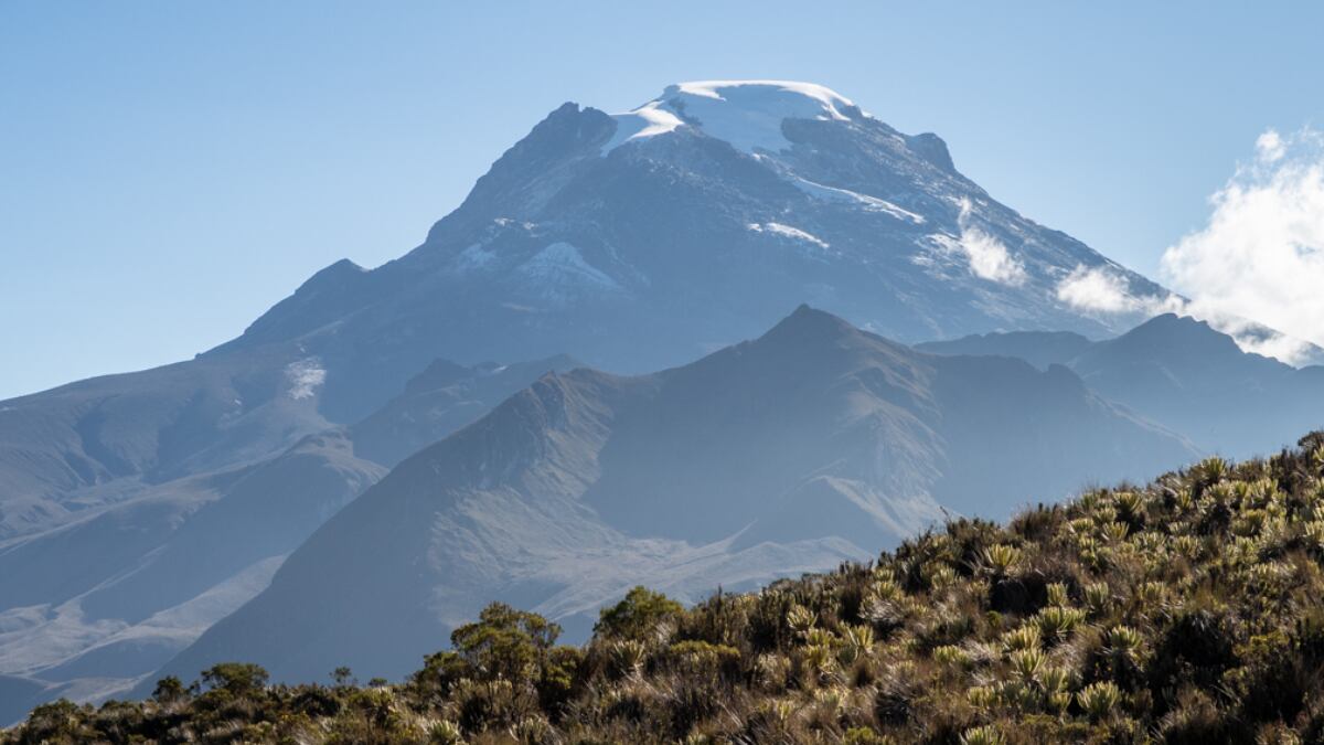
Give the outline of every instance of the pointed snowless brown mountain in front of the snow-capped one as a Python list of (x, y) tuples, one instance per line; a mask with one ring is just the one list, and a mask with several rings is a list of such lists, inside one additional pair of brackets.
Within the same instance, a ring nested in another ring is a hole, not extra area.
[(1063, 367), (915, 353), (801, 308), (653, 375), (549, 375), (405, 460), (167, 673), (400, 676), (483, 603), (583, 638), (649, 582), (681, 599), (825, 570), (941, 520), (1194, 457)]

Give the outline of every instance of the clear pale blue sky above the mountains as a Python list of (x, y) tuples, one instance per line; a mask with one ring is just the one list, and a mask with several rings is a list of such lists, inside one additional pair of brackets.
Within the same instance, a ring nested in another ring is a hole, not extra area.
[(549, 110), (828, 85), (1153, 274), (1256, 135), (1324, 123), (1324, 5), (0, 4), (0, 398), (188, 358), (414, 247)]

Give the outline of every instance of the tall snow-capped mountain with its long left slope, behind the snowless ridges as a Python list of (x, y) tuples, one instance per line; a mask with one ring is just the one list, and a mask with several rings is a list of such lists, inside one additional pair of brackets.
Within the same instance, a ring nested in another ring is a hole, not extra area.
[(902, 342), (1144, 319), (1063, 294), (1082, 272), (1166, 294), (994, 201), (937, 137), (821, 86), (567, 103), (406, 256), (327, 266), (193, 361), (0, 403), (0, 538), (359, 422), (438, 358), (646, 372), (798, 302)]

